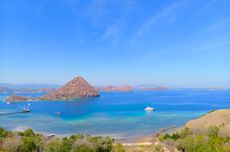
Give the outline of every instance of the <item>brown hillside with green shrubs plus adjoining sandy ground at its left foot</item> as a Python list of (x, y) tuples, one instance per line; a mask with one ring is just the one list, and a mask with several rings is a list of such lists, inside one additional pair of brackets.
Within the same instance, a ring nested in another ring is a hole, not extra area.
[(172, 133), (157, 133), (125, 144), (127, 152), (230, 152), (230, 109), (210, 111)]

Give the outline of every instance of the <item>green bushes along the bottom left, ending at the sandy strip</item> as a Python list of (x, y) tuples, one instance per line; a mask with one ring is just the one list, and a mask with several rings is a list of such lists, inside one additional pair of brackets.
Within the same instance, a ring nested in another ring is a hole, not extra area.
[(13, 132), (0, 127), (0, 152), (124, 152), (124, 148), (109, 137), (48, 138), (32, 129)]

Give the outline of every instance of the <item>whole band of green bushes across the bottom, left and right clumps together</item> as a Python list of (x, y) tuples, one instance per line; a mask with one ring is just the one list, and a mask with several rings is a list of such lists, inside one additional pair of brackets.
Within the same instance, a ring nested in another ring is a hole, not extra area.
[[(161, 145), (129, 146), (126, 150), (163, 152), (165, 147), (182, 152), (230, 152), (230, 137), (222, 135), (215, 126), (202, 133), (184, 128), (173, 134), (163, 134), (159, 140)], [(21, 132), (0, 127), (0, 152), (125, 152), (125, 149), (109, 137), (82, 134), (65, 138), (46, 137), (32, 129)]]

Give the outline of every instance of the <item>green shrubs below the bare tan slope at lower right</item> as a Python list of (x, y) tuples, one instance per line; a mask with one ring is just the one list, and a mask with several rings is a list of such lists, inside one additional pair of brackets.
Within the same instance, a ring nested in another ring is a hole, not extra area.
[(230, 152), (230, 137), (220, 134), (219, 128), (215, 126), (210, 126), (203, 133), (184, 128), (172, 135), (161, 135), (159, 139), (182, 152)]

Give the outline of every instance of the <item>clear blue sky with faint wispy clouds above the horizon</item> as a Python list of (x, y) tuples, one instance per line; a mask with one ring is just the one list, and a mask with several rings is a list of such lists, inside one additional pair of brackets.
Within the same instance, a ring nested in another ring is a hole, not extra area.
[(1, 0), (0, 82), (230, 87), (229, 0)]

